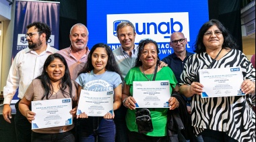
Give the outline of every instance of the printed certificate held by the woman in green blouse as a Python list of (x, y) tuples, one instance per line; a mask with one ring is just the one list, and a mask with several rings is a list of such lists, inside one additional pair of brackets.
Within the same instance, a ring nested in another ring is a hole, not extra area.
[(136, 108), (167, 108), (170, 98), (169, 80), (133, 81)]

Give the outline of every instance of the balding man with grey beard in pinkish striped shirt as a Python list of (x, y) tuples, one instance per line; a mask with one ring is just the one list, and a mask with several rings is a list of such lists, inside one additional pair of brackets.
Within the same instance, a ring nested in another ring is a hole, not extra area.
[[(84, 65), (87, 62), (87, 57), (90, 52), (89, 48), (87, 47), (88, 36), (89, 31), (87, 27), (82, 23), (76, 23), (71, 27), (69, 33), (69, 40), (71, 42), (71, 46), (63, 50), (59, 50), (58, 52), (67, 61), (71, 80), (75, 80), (77, 78), (77, 74), (82, 68), (84, 68)], [(77, 85), (78, 84), (75, 83), (76, 87)], [(75, 124), (73, 135), (75, 135), (75, 141), (79, 141), (79, 139), (77, 139), (77, 131), (79, 131), (77, 130), (79, 129), (77, 125), (79, 125), (79, 123), (82, 124), (83, 122), (81, 121), (77, 123), (76, 118), (73, 119), (73, 122)]]

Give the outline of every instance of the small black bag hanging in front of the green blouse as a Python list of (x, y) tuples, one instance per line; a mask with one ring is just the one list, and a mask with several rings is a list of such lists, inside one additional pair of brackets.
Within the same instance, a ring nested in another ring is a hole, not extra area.
[(148, 133), (153, 131), (150, 110), (138, 109), (135, 115), (139, 133)]

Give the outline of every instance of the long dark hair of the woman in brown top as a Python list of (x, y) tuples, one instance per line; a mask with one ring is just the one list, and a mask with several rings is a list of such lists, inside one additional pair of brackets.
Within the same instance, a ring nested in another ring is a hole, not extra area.
[[(65, 97), (65, 95), (70, 96), (70, 98), (72, 98), (72, 83), (71, 83), (71, 79), (70, 79), (70, 74), (69, 74), (69, 68), (67, 66), (67, 62), (65, 60), (65, 58), (61, 55), (61, 54), (51, 54), (50, 56), (48, 56), (48, 58), (46, 58), (45, 62), (44, 62), (44, 67), (42, 69), (42, 74), (40, 76), (37, 77), (37, 79), (41, 80), (42, 83), (42, 88), (44, 88), (44, 95), (42, 96), (42, 100), (44, 99), (44, 97), (46, 97), (46, 99), (49, 99), (49, 96), (51, 96), (53, 94), (53, 85), (51, 84), (49, 75), (46, 72), (47, 67), (49, 66), (49, 64), (51, 64), (51, 62), (53, 62), (53, 60), (55, 60), (55, 58), (59, 58), (59, 60), (61, 60), (61, 62), (63, 62), (63, 64), (65, 65), (65, 74), (63, 76), (63, 78), (61, 78), (61, 83), (59, 84), (59, 88), (63, 94), (63, 96)], [(65, 88), (69, 87), (69, 92), (65, 91)], [(51, 94), (50, 94), (51, 92)]]

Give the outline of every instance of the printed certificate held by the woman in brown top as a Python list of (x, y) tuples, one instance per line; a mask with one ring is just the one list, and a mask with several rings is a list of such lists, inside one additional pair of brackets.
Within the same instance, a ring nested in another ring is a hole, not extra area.
[(72, 124), (71, 98), (36, 100), (31, 102), (32, 112), (36, 113), (32, 129), (59, 127)]

